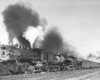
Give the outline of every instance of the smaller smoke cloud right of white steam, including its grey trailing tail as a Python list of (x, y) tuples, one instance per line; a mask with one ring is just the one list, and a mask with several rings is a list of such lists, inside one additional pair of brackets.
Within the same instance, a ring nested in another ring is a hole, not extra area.
[(44, 35), (44, 40), (35, 40), (35, 46), (45, 49), (50, 53), (70, 54), (77, 57), (77, 52), (73, 46), (63, 41), (63, 38), (57, 27), (51, 27)]

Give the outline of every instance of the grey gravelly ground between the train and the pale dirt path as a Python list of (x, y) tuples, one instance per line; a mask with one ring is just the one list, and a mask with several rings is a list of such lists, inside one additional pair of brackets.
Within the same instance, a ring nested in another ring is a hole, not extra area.
[(100, 71), (100, 68), (75, 70), (75, 71), (0, 76), (0, 80), (64, 80), (66, 78), (78, 77), (96, 71)]

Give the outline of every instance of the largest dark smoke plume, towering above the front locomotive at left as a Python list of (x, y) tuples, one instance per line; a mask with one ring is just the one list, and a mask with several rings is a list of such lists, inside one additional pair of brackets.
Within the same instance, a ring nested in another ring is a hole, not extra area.
[(38, 13), (24, 4), (14, 4), (9, 5), (2, 14), (7, 31), (10, 33), (9, 38), (14, 33), (21, 44), (28, 46), (29, 42), (22, 35), (28, 26), (37, 27), (40, 24)]

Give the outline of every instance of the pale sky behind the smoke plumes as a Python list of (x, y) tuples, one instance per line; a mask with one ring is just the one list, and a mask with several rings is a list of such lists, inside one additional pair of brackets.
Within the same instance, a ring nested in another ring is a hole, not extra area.
[[(46, 18), (48, 26), (57, 26), (65, 42), (86, 57), (100, 51), (100, 0), (0, 0), (0, 13), (8, 5), (25, 2)], [(7, 32), (0, 14), (0, 42), (7, 43)]]

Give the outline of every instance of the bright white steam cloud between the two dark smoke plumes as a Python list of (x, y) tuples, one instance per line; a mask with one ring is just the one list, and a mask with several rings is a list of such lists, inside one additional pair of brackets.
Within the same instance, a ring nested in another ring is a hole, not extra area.
[(33, 43), (37, 37), (43, 40), (42, 27), (38, 26), (37, 28), (34, 28), (29, 26), (26, 32), (24, 32), (23, 37), (25, 37), (30, 42), (31, 48), (33, 48)]

